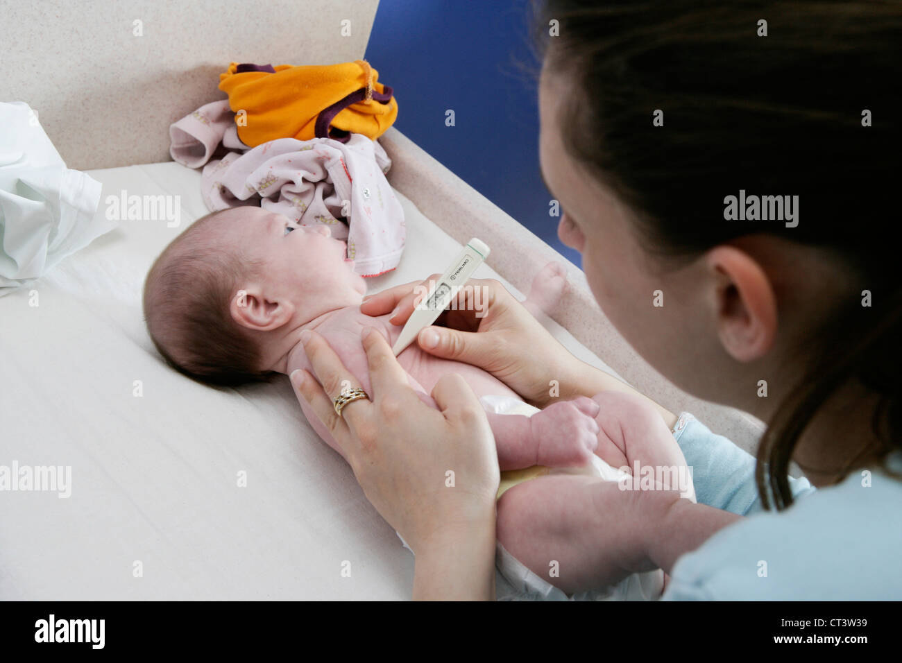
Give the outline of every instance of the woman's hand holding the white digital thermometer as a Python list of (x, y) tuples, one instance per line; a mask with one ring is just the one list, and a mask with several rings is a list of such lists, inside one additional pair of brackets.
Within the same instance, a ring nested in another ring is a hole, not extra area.
[[(364, 299), (360, 310), (382, 316), (395, 309), (393, 325), (403, 325), (423, 298), (426, 281), (410, 281)], [(442, 327), (436, 327), (441, 325)], [(550, 382), (564, 382), (574, 373), (575, 357), (542, 327), (520, 301), (494, 279), (471, 279), (458, 290), (456, 304), (434, 326), (417, 337), (430, 355), (473, 364), (507, 384), (538, 408), (552, 400)], [(434, 334), (434, 343), (430, 335)]]

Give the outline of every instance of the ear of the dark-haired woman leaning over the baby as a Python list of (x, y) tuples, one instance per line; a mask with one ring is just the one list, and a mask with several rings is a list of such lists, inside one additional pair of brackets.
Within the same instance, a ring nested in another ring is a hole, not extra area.
[(767, 355), (777, 338), (777, 297), (768, 274), (748, 253), (721, 245), (706, 254), (714, 315), (724, 349), (739, 362)]

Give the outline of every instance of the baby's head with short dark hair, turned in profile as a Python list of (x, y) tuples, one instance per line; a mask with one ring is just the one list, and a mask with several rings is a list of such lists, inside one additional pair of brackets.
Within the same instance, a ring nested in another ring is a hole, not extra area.
[(232, 207), (199, 218), (163, 250), (144, 284), (144, 318), (173, 368), (236, 385), (278, 371), (301, 327), (365, 292), (326, 226)]

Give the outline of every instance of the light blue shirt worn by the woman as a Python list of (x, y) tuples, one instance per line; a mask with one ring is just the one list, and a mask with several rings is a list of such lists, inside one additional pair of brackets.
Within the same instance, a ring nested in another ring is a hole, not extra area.
[[(764, 511), (754, 457), (686, 412), (673, 432), (698, 502), (748, 517), (677, 559), (664, 600), (902, 599), (902, 481), (879, 467), (818, 490), (790, 478), (793, 505)], [(888, 465), (902, 472), (902, 453)]]

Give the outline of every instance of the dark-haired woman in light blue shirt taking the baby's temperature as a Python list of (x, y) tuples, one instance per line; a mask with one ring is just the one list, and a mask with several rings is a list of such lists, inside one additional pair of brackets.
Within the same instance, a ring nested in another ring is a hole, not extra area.
[[(669, 598), (902, 598), (899, 576), (881, 572), (902, 547), (902, 301), (897, 212), (885, 213), (902, 152), (902, 7), (698, 5), (549, 0), (536, 22), (550, 34), (539, 145), (566, 210), (558, 235), (640, 355), (769, 424), (756, 463), (682, 417), (700, 503), (637, 507), (612, 492), (600, 521), (618, 545), (596, 556), (597, 579), (661, 566)], [(539, 407), (550, 379), (561, 398), (615, 386), (499, 284), (479, 285), (488, 315), (456, 311), (420, 347), (483, 367)], [(362, 310), (399, 305), (403, 324), (414, 286)], [(307, 373), (292, 382), (415, 551), (414, 597), (491, 598), (498, 467), (473, 392), (446, 376), (433, 393), (442, 411), (429, 409), (372, 335), (371, 401), (342, 419), (331, 399), (347, 373), (323, 339), (306, 347), (325, 391)], [(790, 460), (807, 481), (788, 477)], [(435, 486), (449, 466), (463, 488)], [(633, 508), (642, 518), (617, 517)]]

